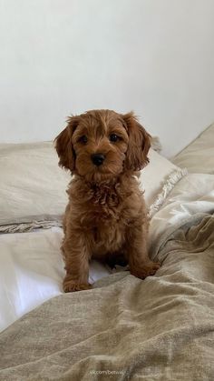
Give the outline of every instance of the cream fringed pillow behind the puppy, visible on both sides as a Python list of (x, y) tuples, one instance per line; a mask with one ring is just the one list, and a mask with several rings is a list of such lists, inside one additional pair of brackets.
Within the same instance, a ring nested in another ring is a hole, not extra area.
[[(177, 174), (174, 182), (170, 180), (168, 189), (171, 189), (181, 173), (176, 165), (152, 149), (149, 157), (151, 162), (141, 171), (140, 182), (147, 206), (151, 207), (169, 176)], [(61, 219), (71, 175), (58, 166), (52, 142), (2, 144), (0, 168), (0, 226)]]

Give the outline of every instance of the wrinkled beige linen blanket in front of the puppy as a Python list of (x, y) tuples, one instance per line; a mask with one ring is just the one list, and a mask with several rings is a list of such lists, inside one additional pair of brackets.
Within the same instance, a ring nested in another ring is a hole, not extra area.
[(214, 216), (161, 239), (156, 276), (106, 276), (0, 335), (0, 380), (213, 380)]

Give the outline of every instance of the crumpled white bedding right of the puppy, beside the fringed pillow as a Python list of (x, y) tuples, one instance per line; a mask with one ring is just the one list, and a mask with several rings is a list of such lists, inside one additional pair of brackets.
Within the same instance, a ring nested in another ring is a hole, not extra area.
[(166, 232), (170, 235), (197, 214), (213, 212), (214, 175), (190, 174), (182, 178), (151, 219), (151, 258), (155, 258), (160, 245), (164, 245)]

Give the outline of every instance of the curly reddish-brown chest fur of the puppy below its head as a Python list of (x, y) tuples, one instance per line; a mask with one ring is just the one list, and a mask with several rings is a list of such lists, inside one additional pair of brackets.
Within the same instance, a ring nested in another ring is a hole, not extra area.
[(100, 256), (120, 250), (128, 226), (141, 214), (143, 199), (137, 181), (88, 185), (74, 180), (68, 193), (69, 225), (83, 231), (92, 253)]

